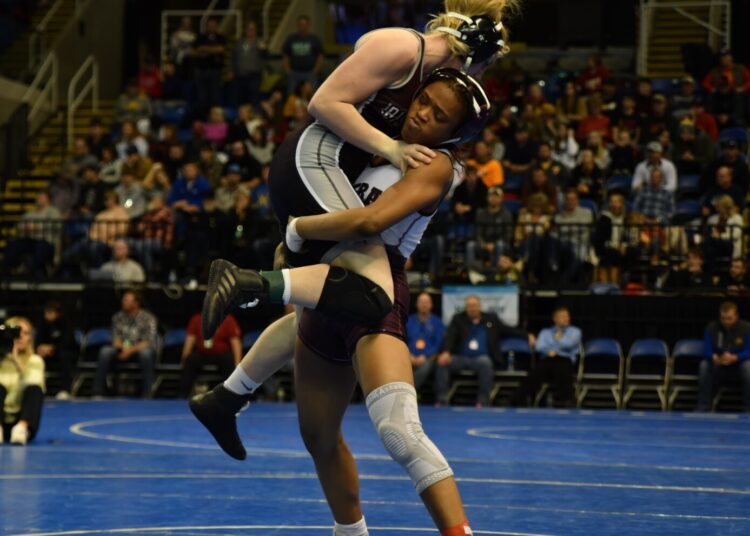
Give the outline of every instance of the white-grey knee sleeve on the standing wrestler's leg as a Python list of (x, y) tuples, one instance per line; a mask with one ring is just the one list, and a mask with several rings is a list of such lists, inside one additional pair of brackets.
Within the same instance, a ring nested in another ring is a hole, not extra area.
[(453, 476), (448, 462), (422, 430), (414, 387), (388, 383), (371, 392), (366, 402), (385, 449), (409, 473), (417, 493)]

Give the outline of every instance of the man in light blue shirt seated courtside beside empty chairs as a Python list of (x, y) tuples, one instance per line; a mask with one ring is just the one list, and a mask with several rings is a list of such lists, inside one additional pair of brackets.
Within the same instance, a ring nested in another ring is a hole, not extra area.
[(573, 375), (581, 352), (581, 330), (570, 325), (567, 307), (552, 312), (553, 326), (544, 328), (536, 338), (537, 362), (513, 395), (514, 405), (528, 406), (543, 383), (552, 386), (555, 405), (573, 405)]

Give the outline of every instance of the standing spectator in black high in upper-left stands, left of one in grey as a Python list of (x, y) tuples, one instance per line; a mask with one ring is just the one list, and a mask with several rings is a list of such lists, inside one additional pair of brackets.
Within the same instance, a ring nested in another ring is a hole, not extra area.
[(199, 116), (205, 116), (211, 106), (221, 103), (221, 77), (224, 69), (226, 39), (219, 34), (219, 21), (213, 17), (206, 21), (206, 31), (195, 40), (192, 55), (195, 58), (196, 107)]

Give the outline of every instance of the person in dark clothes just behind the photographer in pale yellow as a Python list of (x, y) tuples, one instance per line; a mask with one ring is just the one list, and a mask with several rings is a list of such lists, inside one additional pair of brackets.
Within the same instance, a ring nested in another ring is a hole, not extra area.
[(66, 321), (60, 302), (44, 304), (42, 323), (36, 331), (36, 353), (44, 359), (47, 370), (56, 370), (60, 375), (58, 400), (70, 398), (72, 371), (78, 361), (78, 345), (73, 329)]

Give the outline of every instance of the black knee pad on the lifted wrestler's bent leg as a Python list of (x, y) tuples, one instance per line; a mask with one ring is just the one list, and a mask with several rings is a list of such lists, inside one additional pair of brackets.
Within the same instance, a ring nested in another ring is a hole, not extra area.
[(388, 294), (359, 274), (331, 266), (316, 311), (357, 324), (380, 322), (393, 309)]

